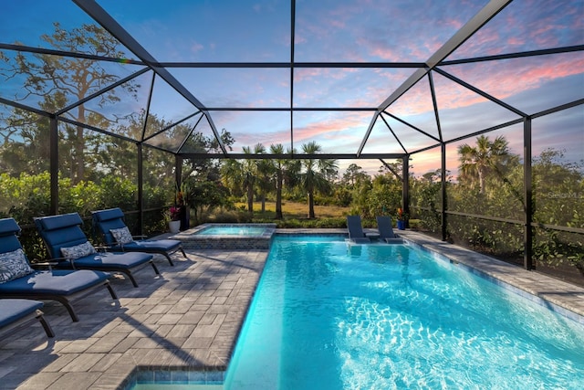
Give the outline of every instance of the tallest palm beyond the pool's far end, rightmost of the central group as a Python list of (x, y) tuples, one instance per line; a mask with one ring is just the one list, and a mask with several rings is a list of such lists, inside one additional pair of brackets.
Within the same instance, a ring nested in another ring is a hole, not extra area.
[[(308, 142), (302, 145), (302, 152), (305, 154), (318, 154), (321, 151), (317, 142)], [(328, 177), (336, 174), (338, 170), (337, 161), (333, 159), (311, 159), (302, 160), (304, 174), (302, 174), (301, 185), (308, 194), (308, 218), (314, 218), (314, 194), (316, 191), (326, 193), (330, 190), (331, 184)]]

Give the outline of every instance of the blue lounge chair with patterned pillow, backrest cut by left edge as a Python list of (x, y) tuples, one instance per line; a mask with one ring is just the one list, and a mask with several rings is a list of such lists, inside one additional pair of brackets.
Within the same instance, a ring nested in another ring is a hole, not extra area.
[[(0, 219), (0, 297), (30, 300), (57, 300), (67, 309), (71, 320), (78, 316), (71, 303), (94, 290), (106, 287), (117, 300), (110, 286), (110, 274), (91, 270), (35, 270), (16, 235), (20, 227), (13, 218)], [(43, 265), (47, 267), (47, 264)]]

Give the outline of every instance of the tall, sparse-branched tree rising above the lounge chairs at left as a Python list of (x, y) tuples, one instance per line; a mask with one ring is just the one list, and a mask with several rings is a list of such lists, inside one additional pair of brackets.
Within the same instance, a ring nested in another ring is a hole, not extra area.
[[(100, 26), (84, 24), (66, 30), (57, 22), (53, 25), (54, 33), (42, 35), (40, 39), (54, 49), (99, 57), (126, 57), (119, 49), (119, 42)], [(23, 93), (17, 96), (16, 100), (26, 100), (33, 95), (39, 96), (43, 99), (40, 103), (41, 108), (52, 113), (67, 107), (68, 104), (83, 100), (120, 79), (99, 61), (90, 58), (67, 58), (43, 53), (26, 57), (21, 52), (16, 54), (14, 61), (9, 61), (5, 55), (1, 58), (8, 63), (8, 67), (0, 73), (1, 76), (5, 79), (25, 77)], [(121, 88), (130, 93), (136, 92), (136, 87), (131, 82), (125, 83)], [(120, 100), (115, 94), (115, 89), (104, 92), (94, 99), (98, 101), (99, 108)], [(79, 104), (62, 115), (78, 123), (87, 123), (103, 129), (117, 121), (117, 118), (106, 118), (86, 104)], [(67, 123), (62, 129), (63, 143), (59, 152), (64, 153), (63, 162), (69, 165), (69, 177), (74, 183), (78, 183), (86, 178), (86, 168), (91, 165), (86, 161), (89, 142), (93, 142), (91, 151), (99, 152), (100, 137), (98, 134), (92, 134), (88, 139), (80, 125)], [(38, 129), (40, 130), (42, 129)]]

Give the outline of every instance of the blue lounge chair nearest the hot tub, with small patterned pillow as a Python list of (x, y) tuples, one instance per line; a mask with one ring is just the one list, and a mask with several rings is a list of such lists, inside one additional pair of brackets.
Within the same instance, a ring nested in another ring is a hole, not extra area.
[(134, 239), (143, 237), (132, 237), (130, 230), (124, 223), (124, 213), (119, 207), (108, 210), (93, 211), (93, 227), (103, 237), (109, 250), (121, 252), (144, 252), (158, 253), (168, 259), (173, 266), (170, 255), (176, 251), (186, 253), (183, 250), (183, 243), (177, 239)]

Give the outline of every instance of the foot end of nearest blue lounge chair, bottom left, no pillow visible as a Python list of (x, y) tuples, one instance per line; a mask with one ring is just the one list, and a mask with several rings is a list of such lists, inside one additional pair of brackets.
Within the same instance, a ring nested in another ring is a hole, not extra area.
[(55, 337), (40, 309), (44, 303), (39, 300), (0, 300), (0, 339), (24, 329), (39, 321), (47, 337)]

